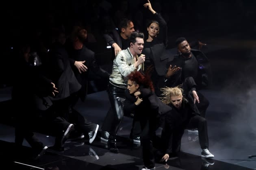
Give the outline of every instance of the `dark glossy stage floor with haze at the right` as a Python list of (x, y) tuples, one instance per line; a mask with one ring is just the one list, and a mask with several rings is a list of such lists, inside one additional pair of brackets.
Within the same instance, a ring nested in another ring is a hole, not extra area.
[[(217, 91), (203, 92), (211, 103), (207, 115), (208, 134), (210, 152), (215, 155), (214, 159), (208, 160), (211, 164), (214, 163), (209, 165), (208, 169), (256, 169), (256, 159), (248, 158), (248, 155), (255, 154), (256, 151), (255, 134), (244, 129), (241, 132), (237, 125), (231, 123), (232, 115), (228, 113), (228, 110), (232, 109), (232, 104), (219, 103), (222, 98), (219, 98)], [(76, 106), (87, 119), (99, 125), (102, 124), (108, 107), (109, 101), (106, 91), (89, 94), (85, 103), (80, 102)], [(222, 110), (215, 111), (218, 108), (222, 108)], [(131, 122), (130, 118), (125, 117), (121, 123), (117, 134), (117, 145), (120, 149), (118, 154), (111, 153), (106, 149), (106, 143), (100, 141), (99, 132), (92, 144), (89, 144), (87, 138), (79, 141), (69, 141), (65, 143), (64, 152), (46, 153), (37, 161), (29, 159), (28, 154), (31, 148), (26, 142), (24, 142), (24, 154), (22, 153), (21, 157), (14, 158), (14, 155), (17, 154), (13, 150), (14, 128), (6, 124), (0, 124), (1, 161), (13, 169), (24, 170), (31, 168), (45, 169), (54, 166), (59, 167), (60, 170), (138, 170), (143, 166), (143, 161), (140, 147), (130, 144), (128, 139)], [(161, 130), (158, 130), (157, 134), (160, 134), (160, 132)], [(49, 146), (54, 144), (54, 137), (39, 133), (36, 133), (36, 135), (44, 144)], [(198, 135), (185, 132), (182, 137), (179, 157), (168, 160), (166, 164), (156, 164), (156, 169), (164, 170), (168, 167), (173, 170), (207, 169), (204, 166), (205, 161), (200, 157), (200, 151)]]

